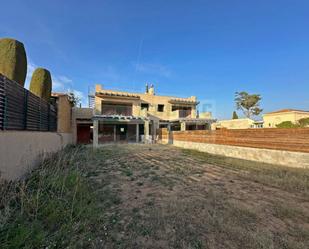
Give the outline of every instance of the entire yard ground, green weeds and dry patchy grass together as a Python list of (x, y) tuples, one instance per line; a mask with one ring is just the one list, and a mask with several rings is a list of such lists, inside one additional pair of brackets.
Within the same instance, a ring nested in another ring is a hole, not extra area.
[(309, 248), (305, 169), (163, 145), (69, 147), (0, 191), (0, 248)]

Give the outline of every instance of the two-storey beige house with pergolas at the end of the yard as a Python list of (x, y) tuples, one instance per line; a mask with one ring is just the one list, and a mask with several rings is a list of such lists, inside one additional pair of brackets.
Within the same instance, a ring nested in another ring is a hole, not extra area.
[(196, 97), (156, 95), (153, 86), (145, 93), (130, 93), (96, 85), (93, 103), (93, 109), (73, 109), (73, 133), (77, 142), (94, 146), (153, 141), (158, 128), (207, 130), (215, 122), (210, 113), (197, 114)]

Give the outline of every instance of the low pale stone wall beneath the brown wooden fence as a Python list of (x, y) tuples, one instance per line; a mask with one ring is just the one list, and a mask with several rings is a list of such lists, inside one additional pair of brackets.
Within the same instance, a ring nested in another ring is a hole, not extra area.
[(309, 169), (309, 153), (256, 149), (221, 144), (206, 144), (175, 140), (173, 141), (173, 145), (185, 149), (193, 149), (211, 154)]

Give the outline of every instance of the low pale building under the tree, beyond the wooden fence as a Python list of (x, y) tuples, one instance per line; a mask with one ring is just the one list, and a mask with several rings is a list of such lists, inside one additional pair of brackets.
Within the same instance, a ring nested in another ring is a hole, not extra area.
[(255, 121), (250, 118), (220, 120), (212, 125), (212, 129), (249, 129), (263, 128), (263, 121)]

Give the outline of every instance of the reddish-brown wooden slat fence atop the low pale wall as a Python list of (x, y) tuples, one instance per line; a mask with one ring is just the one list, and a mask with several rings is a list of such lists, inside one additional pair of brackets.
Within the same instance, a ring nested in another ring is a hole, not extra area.
[(222, 129), (214, 131), (173, 131), (159, 129), (159, 139), (234, 145), (261, 149), (309, 153), (309, 128)]

